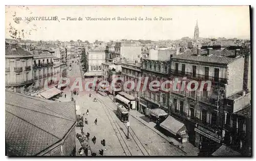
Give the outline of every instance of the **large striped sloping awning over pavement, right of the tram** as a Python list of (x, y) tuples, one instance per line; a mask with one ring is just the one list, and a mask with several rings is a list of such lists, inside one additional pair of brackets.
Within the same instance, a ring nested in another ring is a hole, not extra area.
[(170, 133), (174, 135), (181, 135), (181, 137), (186, 137), (186, 126), (173, 118), (172, 116), (168, 116), (161, 124), (160, 126), (166, 130), (168, 130)]

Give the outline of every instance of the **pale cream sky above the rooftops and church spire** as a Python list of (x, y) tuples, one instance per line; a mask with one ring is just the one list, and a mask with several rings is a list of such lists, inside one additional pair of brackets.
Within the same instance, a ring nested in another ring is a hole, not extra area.
[[(57, 16), (59, 21), (25, 20), (31, 16)], [(17, 23), (15, 17), (22, 20)], [(67, 17), (77, 20), (66, 20)], [(86, 20), (86, 17), (111, 20)], [(116, 20), (112, 20), (114, 17)], [(117, 17), (137, 17), (137, 20), (117, 20)], [(139, 17), (143, 20), (138, 20)], [(193, 38), (197, 20), (200, 37), (250, 39), (249, 6), (6, 6), (6, 38), (14, 30), (20, 35), (24, 32), (22, 39), (30, 40), (175, 40)]]

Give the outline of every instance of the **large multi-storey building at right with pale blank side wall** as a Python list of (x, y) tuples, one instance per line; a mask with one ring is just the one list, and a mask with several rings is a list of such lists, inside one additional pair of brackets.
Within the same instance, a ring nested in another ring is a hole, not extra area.
[[(171, 90), (169, 95), (169, 114), (187, 125), (189, 140), (198, 148), (212, 152), (216, 150), (212, 147), (222, 143), (225, 120), (232, 114), (225, 102), (243, 91), (244, 61), (239, 50), (212, 48), (193, 49), (172, 57), (171, 80), (199, 83), (198, 88), (191, 84), (191, 89), (196, 90)], [(210, 90), (207, 84), (201, 86), (202, 81), (211, 82)]]

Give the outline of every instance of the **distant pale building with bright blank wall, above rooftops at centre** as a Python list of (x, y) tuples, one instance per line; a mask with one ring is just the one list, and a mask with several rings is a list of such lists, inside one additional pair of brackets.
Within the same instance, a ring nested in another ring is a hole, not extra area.
[(134, 41), (118, 41), (115, 43), (114, 58), (122, 57), (128, 61), (134, 62), (141, 56), (141, 44)]

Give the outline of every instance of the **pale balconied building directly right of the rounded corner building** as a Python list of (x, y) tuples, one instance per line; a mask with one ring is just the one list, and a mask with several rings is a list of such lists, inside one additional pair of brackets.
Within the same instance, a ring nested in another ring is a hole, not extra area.
[[(45, 81), (54, 75), (53, 56), (50, 54), (34, 55), (33, 61), (34, 90), (38, 90), (43, 88)], [(48, 84), (52, 82), (50, 81)]]

